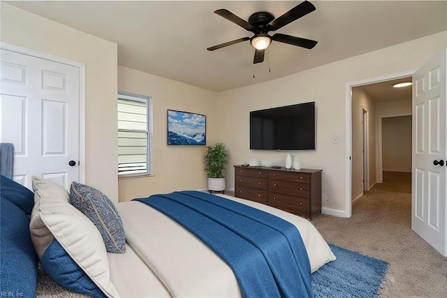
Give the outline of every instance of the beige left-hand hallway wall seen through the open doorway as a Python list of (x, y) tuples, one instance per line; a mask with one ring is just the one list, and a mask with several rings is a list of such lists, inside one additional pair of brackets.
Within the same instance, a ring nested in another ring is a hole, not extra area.
[(352, 88), (352, 173), (351, 173), (351, 199), (354, 200), (363, 194), (363, 110), (367, 111), (368, 118), (368, 181), (367, 187), (376, 182), (376, 117), (375, 104), (362, 87)]

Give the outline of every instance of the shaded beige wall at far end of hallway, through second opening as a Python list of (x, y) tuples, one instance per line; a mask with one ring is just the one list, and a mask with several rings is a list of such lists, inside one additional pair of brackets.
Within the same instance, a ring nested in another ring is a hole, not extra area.
[(382, 166), (411, 172), (411, 116), (382, 119)]

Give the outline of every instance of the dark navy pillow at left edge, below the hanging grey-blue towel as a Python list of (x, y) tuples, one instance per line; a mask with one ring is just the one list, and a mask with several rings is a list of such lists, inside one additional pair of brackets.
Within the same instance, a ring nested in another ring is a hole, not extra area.
[(34, 206), (34, 193), (27, 187), (0, 175), (0, 194), (27, 215), (31, 214)]

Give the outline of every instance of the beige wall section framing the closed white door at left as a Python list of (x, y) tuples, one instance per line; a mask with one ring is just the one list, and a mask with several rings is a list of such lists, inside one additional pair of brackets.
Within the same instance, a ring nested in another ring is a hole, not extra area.
[(117, 45), (0, 5), (2, 42), (85, 64), (85, 183), (117, 201)]

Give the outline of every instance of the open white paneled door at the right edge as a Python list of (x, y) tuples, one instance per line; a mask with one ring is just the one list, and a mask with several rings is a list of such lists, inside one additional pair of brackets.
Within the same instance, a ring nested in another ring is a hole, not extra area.
[(413, 74), (411, 228), (447, 256), (446, 57), (434, 57)]

